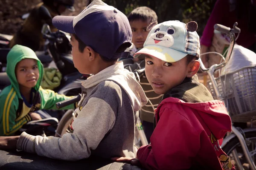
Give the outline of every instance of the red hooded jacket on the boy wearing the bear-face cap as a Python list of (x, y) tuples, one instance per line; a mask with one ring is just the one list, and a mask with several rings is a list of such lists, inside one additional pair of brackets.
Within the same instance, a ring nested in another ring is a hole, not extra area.
[[(231, 119), (218, 100), (189, 103), (168, 97), (156, 111), (151, 145), (140, 147), (143, 167), (160, 170), (234, 170), (218, 139), (231, 131)], [(200, 167), (200, 168), (198, 168)]]

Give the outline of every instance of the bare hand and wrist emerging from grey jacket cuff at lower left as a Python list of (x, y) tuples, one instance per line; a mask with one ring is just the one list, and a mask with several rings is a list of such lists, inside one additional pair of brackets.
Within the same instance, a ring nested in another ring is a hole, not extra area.
[(0, 150), (16, 150), (20, 136), (0, 136)]

